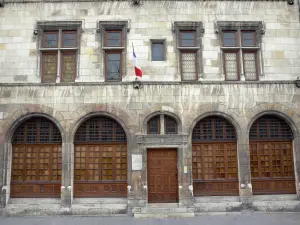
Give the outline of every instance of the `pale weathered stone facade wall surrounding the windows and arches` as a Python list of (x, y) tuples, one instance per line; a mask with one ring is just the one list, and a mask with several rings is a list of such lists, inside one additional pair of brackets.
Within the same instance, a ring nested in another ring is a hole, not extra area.
[[(41, 83), (38, 21), (81, 21), (78, 76), (74, 83)], [(122, 82), (104, 80), (99, 21), (127, 21), (126, 68)], [(202, 22), (199, 81), (181, 82), (172, 31), (174, 21)], [(258, 81), (224, 80), (218, 21), (261, 21), (261, 70)], [(61, 205), (73, 202), (74, 135), (82, 121), (107, 115), (124, 128), (128, 145), (128, 213), (146, 207), (147, 148), (178, 149), (179, 205), (194, 205), (192, 131), (208, 115), (229, 120), (237, 132), (239, 196), (252, 201), (249, 130), (262, 115), (283, 118), (293, 131), (297, 196), (300, 197), (299, 8), (286, 1), (131, 1), (39, 2), (6, 0), (0, 8), (0, 202), (10, 199), (11, 138), (24, 120), (42, 115), (62, 134)], [(166, 60), (151, 61), (150, 40), (165, 39)], [(132, 47), (144, 72), (134, 88)], [(177, 135), (147, 135), (153, 115), (174, 117)], [(133, 170), (132, 155), (142, 156)], [(188, 173), (183, 172), (187, 166)]]

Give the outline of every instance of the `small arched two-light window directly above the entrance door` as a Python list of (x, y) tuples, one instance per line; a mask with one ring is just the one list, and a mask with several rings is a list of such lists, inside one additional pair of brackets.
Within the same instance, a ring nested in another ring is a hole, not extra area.
[[(163, 125), (164, 129), (161, 129)], [(157, 115), (152, 117), (147, 123), (148, 134), (177, 134), (177, 122), (167, 115)]]

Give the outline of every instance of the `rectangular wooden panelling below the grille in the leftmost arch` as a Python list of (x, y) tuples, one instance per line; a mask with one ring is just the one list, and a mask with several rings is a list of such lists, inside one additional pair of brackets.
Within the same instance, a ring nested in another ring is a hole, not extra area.
[(61, 175), (61, 145), (13, 145), (11, 197), (60, 197)]

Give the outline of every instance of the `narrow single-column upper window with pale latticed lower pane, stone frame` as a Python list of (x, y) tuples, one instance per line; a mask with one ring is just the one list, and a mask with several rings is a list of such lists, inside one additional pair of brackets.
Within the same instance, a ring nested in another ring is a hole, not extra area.
[(180, 54), (181, 78), (184, 81), (198, 80), (202, 24), (199, 22), (175, 22), (174, 31)]

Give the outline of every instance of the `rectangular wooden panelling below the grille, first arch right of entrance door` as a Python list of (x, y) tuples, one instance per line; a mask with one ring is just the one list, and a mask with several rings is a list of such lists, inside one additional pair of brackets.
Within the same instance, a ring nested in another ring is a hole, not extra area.
[(194, 196), (238, 195), (236, 142), (193, 143)]

